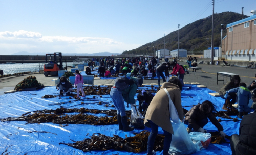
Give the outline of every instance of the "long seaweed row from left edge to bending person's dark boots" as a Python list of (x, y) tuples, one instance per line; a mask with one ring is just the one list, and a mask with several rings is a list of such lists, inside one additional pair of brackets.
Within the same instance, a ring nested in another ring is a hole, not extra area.
[[(67, 115), (65, 113), (79, 112), (75, 115)], [(94, 115), (87, 115), (83, 113), (94, 113), (94, 114), (107, 114), (113, 117), (97, 117)], [(116, 117), (116, 110), (97, 110), (97, 109), (66, 109), (58, 108), (56, 110), (42, 110), (34, 111), (34, 114), (23, 114), (21, 117), (8, 117), (1, 119), (2, 122), (5, 121), (27, 121), (27, 123), (48, 123), (52, 122), (55, 124), (89, 124), (89, 125), (111, 125), (118, 124)], [(131, 115), (131, 111), (126, 112), (127, 116)], [(26, 115), (26, 116), (25, 116)], [(130, 120), (127, 121), (127, 124)]]

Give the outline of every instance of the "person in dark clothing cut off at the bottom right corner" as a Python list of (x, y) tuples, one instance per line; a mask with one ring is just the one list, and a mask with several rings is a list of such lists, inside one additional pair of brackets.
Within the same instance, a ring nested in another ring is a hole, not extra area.
[(239, 135), (233, 134), (230, 138), (232, 154), (255, 155), (256, 154), (256, 110), (252, 114), (244, 116), (239, 127)]

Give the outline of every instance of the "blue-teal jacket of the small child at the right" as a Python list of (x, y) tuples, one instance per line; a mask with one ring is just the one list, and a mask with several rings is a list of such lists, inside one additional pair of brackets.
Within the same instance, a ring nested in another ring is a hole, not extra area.
[(251, 98), (251, 92), (248, 88), (240, 86), (230, 89), (228, 92), (237, 93), (237, 103), (239, 105), (248, 105), (249, 99)]

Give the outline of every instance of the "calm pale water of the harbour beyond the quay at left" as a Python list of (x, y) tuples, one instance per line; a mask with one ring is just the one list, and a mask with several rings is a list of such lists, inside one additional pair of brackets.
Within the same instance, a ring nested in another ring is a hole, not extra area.
[[(39, 72), (44, 70), (45, 63), (15, 63), (15, 64), (0, 64), (0, 70), (3, 70), (4, 75), (20, 72)], [(67, 62), (67, 66), (72, 66), (72, 62)], [(65, 63), (63, 63), (63, 68)]]

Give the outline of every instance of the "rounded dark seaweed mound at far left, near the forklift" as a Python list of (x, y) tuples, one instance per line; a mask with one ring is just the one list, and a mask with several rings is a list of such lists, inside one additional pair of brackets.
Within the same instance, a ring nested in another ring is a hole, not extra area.
[(35, 76), (29, 76), (25, 78), (23, 81), (19, 82), (14, 89), (17, 91), (22, 91), (25, 88), (36, 88), (40, 86), (43, 85), (36, 80)]

